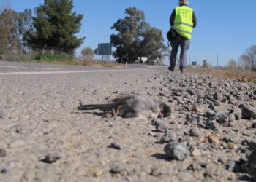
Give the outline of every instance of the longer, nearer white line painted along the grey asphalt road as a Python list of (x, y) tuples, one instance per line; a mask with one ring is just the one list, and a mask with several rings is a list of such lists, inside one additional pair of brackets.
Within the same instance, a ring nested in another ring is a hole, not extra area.
[(10, 72), (0, 73), (1, 75), (35, 75), (35, 74), (83, 74), (83, 73), (94, 73), (94, 72), (110, 72), (110, 71), (149, 71), (147, 69), (119, 69), (119, 70), (80, 70), (80, 71), (33, 71), (33, 72)]

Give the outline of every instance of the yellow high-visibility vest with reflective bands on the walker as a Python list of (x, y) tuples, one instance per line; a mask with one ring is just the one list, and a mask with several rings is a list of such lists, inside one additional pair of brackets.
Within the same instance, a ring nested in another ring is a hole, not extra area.
[(193, 31), (193, 9), (187, 6), (176, 7), (176, 17), (173, 23), (173, 29), (181, 36), (191, 39)]

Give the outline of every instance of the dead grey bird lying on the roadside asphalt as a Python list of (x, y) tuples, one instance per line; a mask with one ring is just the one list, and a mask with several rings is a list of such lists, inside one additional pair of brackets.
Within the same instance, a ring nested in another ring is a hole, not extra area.
[(145, 95), (121, 94), (110, 103), (78, 106), (78, 110), (99, 109), (113, 116), (131, 117), (167, 117), (170, 116), (170, 106), (161, 100), (155, 100)]

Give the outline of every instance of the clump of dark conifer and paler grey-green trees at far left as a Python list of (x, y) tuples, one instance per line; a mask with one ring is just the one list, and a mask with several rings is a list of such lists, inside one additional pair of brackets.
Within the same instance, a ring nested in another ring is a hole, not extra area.
[(80, 31), (83, 15), (72, 12), (72, 8), (72, 0), (45, 0), (34, 9), (33, 16), (31, 9), (15, 12), (1, 3), (0, 54), (26, 52), (34, 47), (75, 52), (85, 38), (75, 36)]

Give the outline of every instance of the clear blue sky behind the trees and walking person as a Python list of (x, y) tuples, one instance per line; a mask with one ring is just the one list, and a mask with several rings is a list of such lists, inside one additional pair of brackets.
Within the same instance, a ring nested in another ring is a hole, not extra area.
[[(43, 0), (10, 0), (10, 7), (21, 12), (43, 4)], [(80, 47), (97, 48), (98, 43), (109, 42), (115, 33), (111, 26), (124, 18), (124, 9), (137, 7), (146, 14), (146, 22), (166, 32), (170, 28), (170, 13), (178, 0), (74, 0), (74, 11), (83, 14), (83, 25), (78, 37), (86, 36)], [(195, 10), (197, 27), (193, 31), (189, 57), (202, 63), (225, 66), (230, 59), (238, 60), (247, 47), (256, 44), (255, 0), (190, 0)], [(80, 53), (80, 49), (78, 52)]]

